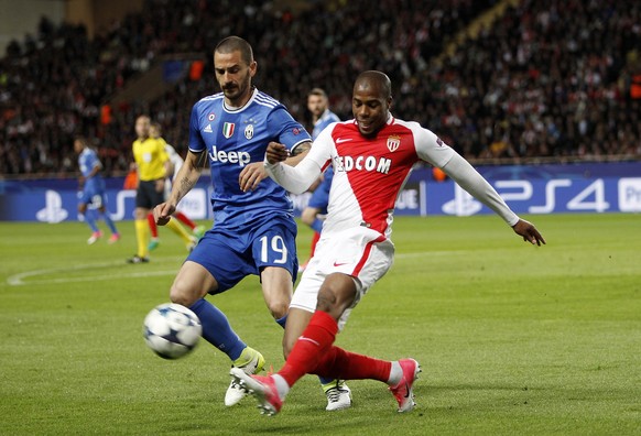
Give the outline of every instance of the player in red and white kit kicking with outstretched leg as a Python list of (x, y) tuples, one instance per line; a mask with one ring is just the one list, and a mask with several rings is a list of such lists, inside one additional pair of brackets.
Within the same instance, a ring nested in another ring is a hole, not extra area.
[(390, 113), (391, 83), (381, 72), (361, 73), (354, 86), (354, 120), (329, 126), (295, 167), (281, 164), (286, 149), (271, 143), (265, 154), (270, 177), (303, 193), (327, 166), (334, 166), (327, 220), (290, 305), (283, 340), (285, 364), (269, 377), (231, 374), (273, 415), (294, 383), (306, 373), (341, 380), (373, 379), (389, 385), (399, 412), (411, 411), (413, 383), (421, 371), (414, 359), (384, 361), (334, 346), (337, 333), (366, 292), (392, 264), (390, 240), (394, 203), (412, 166), (426, 161), (442, 168), (498, 214), (532, 244), (545, 240), (520, 219), (491, 185), (433, 132)]

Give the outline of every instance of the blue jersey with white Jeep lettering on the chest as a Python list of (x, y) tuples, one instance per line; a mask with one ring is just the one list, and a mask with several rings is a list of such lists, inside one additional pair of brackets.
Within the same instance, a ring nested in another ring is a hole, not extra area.
[(292, 150), (309, 140), (283, 105), (258, 89), (240, 109), (226, 108), (222, 92), (196, 102), (189, 150), (206, 151), (209, 156), (215, 228), (239, 231), (272, 219), (274, 214), (293, 220), (293, 205), (283, 187), (268, 177), (254, 190), (243, 193), (238, 178), (247, 164), (264, 161), (271, 141)]

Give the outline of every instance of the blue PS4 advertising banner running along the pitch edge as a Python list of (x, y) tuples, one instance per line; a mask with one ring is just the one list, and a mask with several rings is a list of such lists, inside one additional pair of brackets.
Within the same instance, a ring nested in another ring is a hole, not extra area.
[[(517, 214), (640, 212), (641, 162), (477, 167)], [(204, 174), (178, 208), (211, 219), (210, 181)], [(107, 179), (107, 208), (115, 220), (133, 219), (134, 190)], [(75, 179), (0, 181), (0, 220), (78, 220)], [(309, 194), (292, 196), (296, 214)], [(413, 171), (396, 200), (396, 215), (491, 214), (454, 182), (437, 182), (431, 168)]]

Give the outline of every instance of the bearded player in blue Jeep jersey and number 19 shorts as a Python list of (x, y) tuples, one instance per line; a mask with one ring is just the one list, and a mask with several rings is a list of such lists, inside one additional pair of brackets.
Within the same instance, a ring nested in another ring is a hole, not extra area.
[[(189, 307), (200, 319), (203, 337), (227, 353), (233, 367), (251, 374), (262, 370), (264, 358), (205, 297), (230, 290), (247, 275), (259, 275), (267, 306), (284, 326), (298, 268), (296, 222), (286, 190), (267, 177), (263, 159), (270, 141), (278, 141), (292, 155), (298, 154), (291, 157), (295, 164), (312, 142), (283, 105), (252, 86), (257, 63), (247, 41), (238, 36), (220, 41), (214, 50), (214, 69), (222, 92), (194, 105), (185, 163), (169, 199), (153, 212), (156, 224), (169, 222), (199, 178), (207, 156), (214, 226), (181, 266), (170, 298)], [(245, 395), (232, 380), (225, 404), (237, 404)]]

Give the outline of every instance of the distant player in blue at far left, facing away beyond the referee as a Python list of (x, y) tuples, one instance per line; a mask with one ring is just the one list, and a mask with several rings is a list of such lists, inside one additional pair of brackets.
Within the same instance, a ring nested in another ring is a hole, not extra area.
[(78, 153), (78, 166), (80, 167), (78, 187), (82, 190), (78, 192), (78, 216), (84, 217), (85, 222), (91, 229), (91, 236), (87, 239), (87, 243), (93, 244), (102, 237), (102, 231), (96, 225), (94, 210), (88, 210), (88, 205), (93, 205), (94, 209), (98, 210), (109, 227), (111, 231), (109, 243), (117, 242), (120, 239), (120, 235), (105, 207), (107, 196), (105, 194), (105, 181), (100, 175), (102, 163), (100, 163), (96, 152), (89, 148), (89, 141), (84, 137), (77, 137), (74, 140), (74, 150)]

